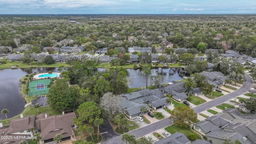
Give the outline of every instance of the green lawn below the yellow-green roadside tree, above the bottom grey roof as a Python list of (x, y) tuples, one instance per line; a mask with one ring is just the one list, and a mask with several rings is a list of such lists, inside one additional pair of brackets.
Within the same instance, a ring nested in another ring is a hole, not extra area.
[(168, 126), (164, 129), (167, 132), (169, 132), (170, 134), (174, 134), (175, 132), (183, 133), (183, 134), (185, 134), (186, 137), (188, 137), (189, 134), (193, 133), (193, 134), (196, 135), (196, 140), (201, 139), (201, 137), (196, 132), (194, 132), (193, 130), (190, 129), (190, 126), (188, 126), (187, 128), (184, 128), (184, 127), (180, 127), (176, 124), (173, 124), (173, 125)]

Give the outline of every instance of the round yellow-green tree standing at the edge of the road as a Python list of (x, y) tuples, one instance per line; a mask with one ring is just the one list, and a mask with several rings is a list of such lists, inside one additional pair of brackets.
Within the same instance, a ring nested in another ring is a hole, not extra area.
[(172, 110), (172, 116), (169, 119), (172, 118), (179, 126), (187, 127), (196, 122), (197, 114), (188, 106), (177, 106)]

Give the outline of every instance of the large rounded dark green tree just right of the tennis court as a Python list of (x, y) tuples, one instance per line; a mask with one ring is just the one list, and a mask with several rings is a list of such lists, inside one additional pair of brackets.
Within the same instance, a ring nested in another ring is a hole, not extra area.
[(74, 106), (79, 91), (80, 88), (69, 87), (67, 80), (57, 79), (50, 86), (47, 94), (47, 103), (54, 110), (66, 110), (68, 107)]

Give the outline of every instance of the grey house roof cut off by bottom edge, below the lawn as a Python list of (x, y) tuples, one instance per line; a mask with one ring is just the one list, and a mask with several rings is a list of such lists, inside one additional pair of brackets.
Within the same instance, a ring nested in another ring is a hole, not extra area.
[(188, 140), (185, 134), (175, 132), (166, 138), (154, 142), (154, 144), (191, 144), (191, 142)]

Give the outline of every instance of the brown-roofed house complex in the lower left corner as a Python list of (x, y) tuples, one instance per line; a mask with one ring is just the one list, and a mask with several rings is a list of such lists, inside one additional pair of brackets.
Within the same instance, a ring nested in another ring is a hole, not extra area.
[[(41, 142), (44, 144), (53, 142), (53, 138), (56, 134), (62, 135), (62, 141), (73, 139), (73, 128), (76, 126), (73, 123), (73, 118), (76, 117), (74, 112), (70, 112), (62, 115), (49, 116), (49, 114), (39, 114), (37, 116), (27, 116), (13, 119), (9, 126), (2, 126), (0, 123), (1, 136), (12, 136), (12, 139), (0, 139), (0, 144), (19, 144), (26, 138), (32, 138), (33, 132), (31, 128), (36, 128), (36, 132), (41, 133)], [(21, 139), (16, 139), (14, 136), (23, 136)]]

